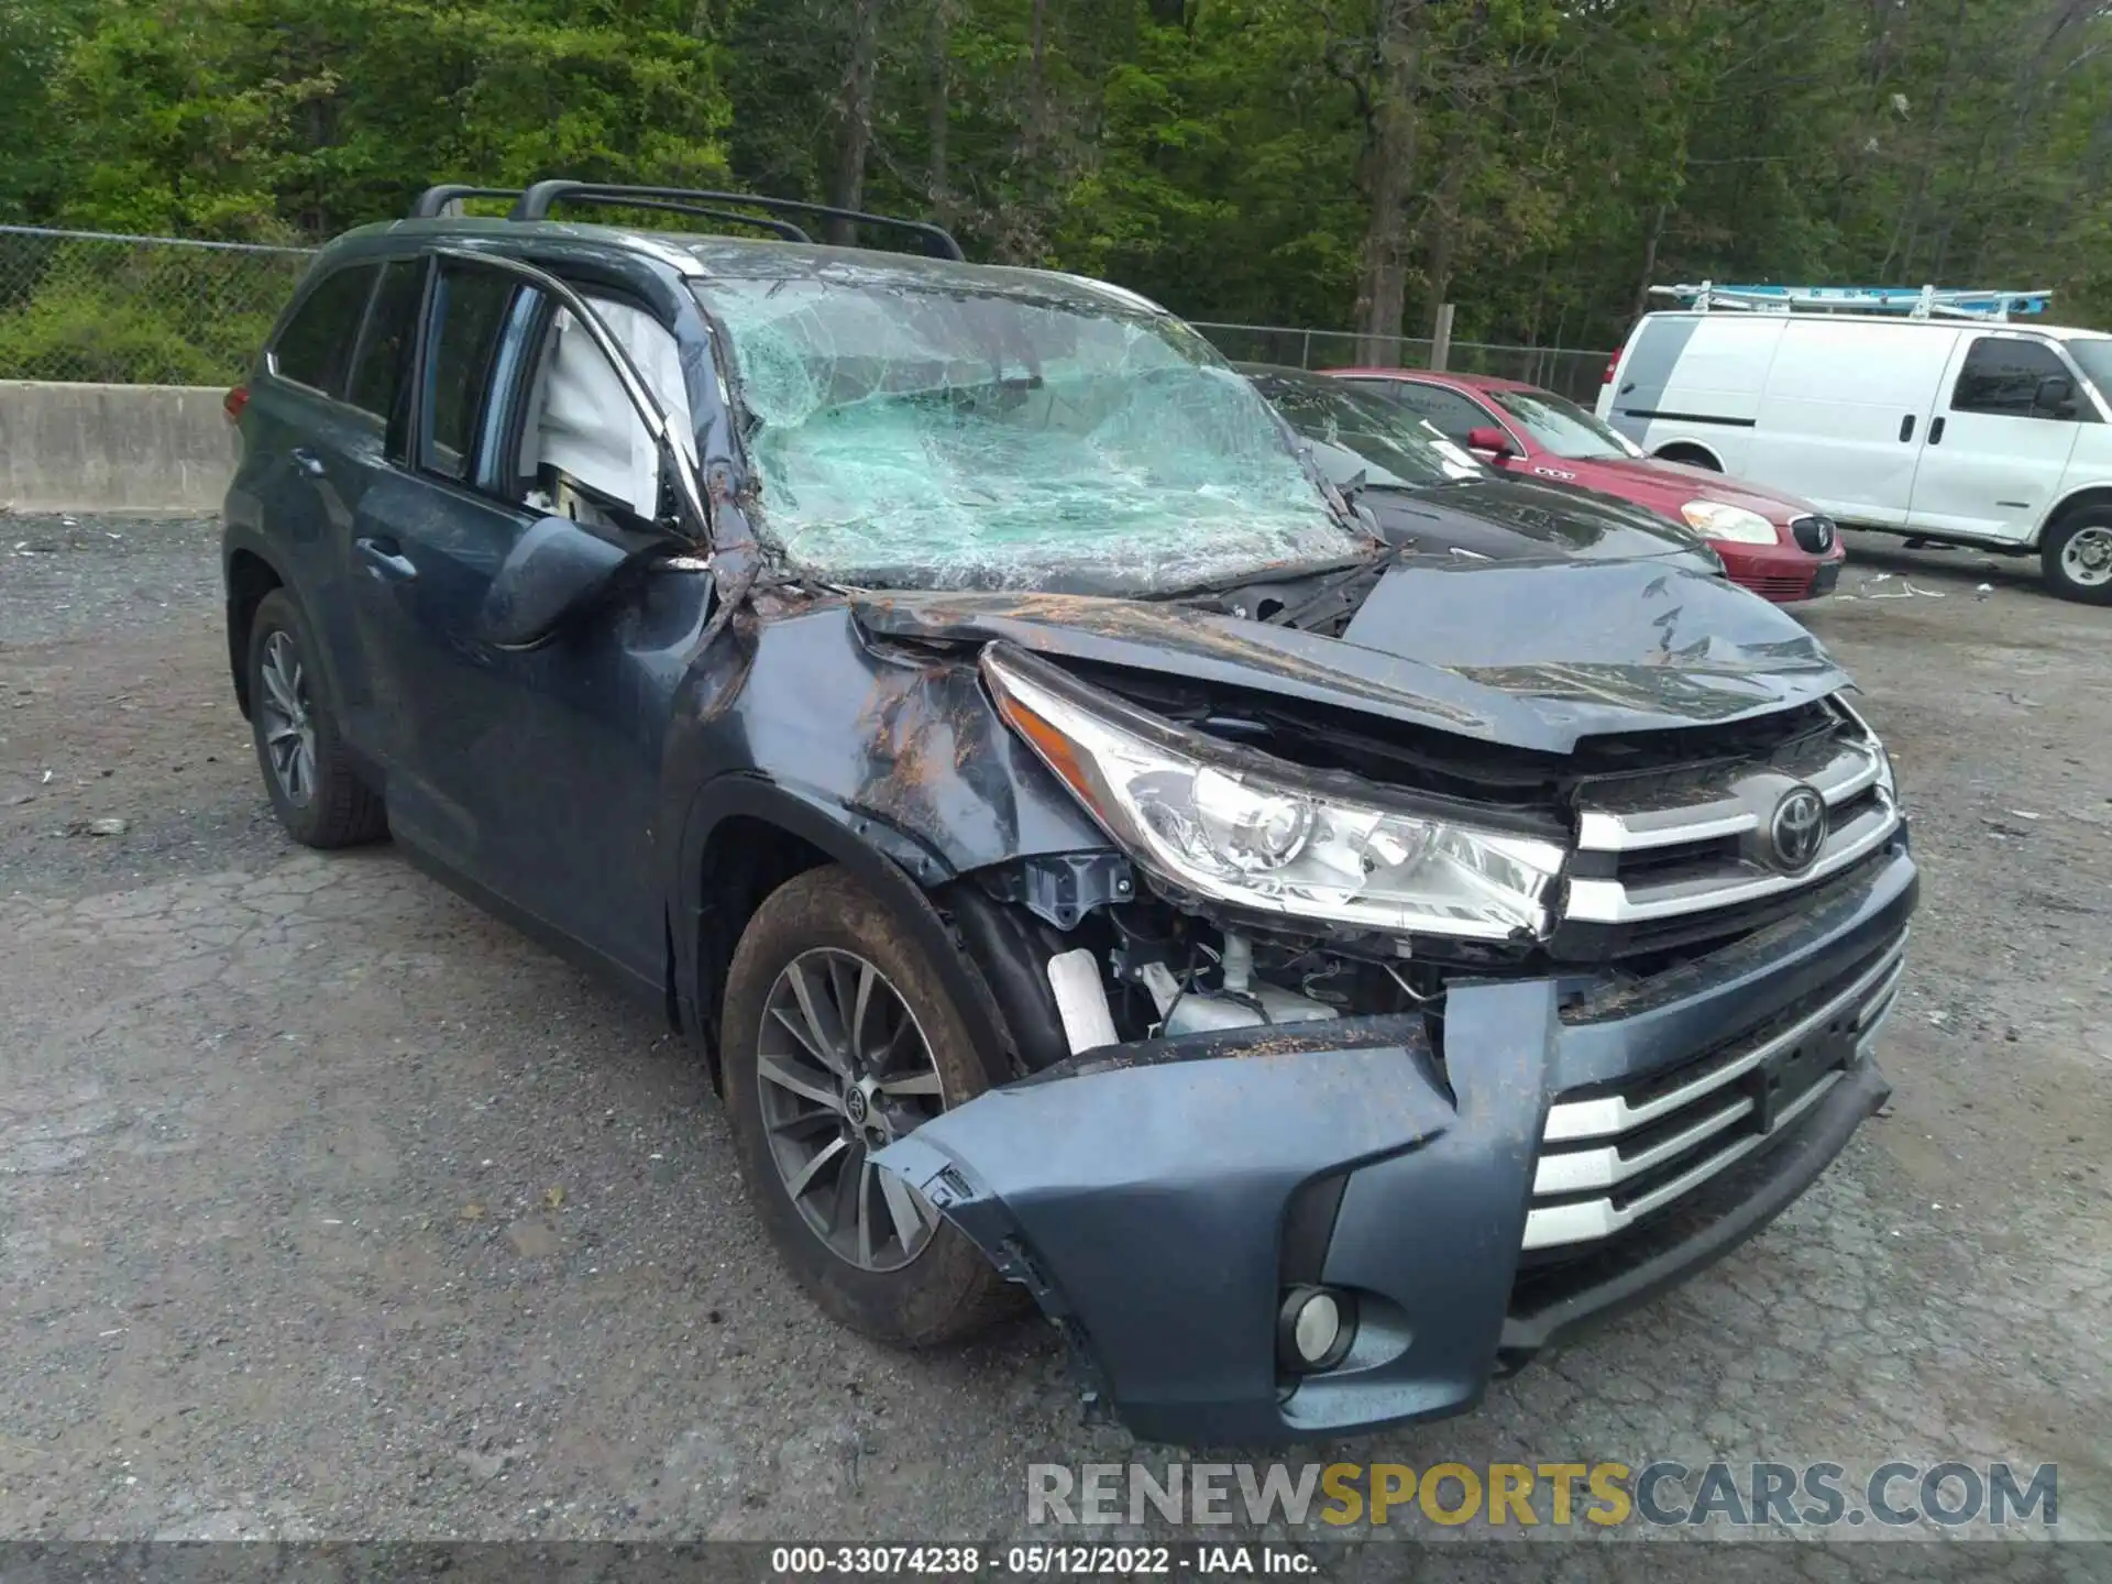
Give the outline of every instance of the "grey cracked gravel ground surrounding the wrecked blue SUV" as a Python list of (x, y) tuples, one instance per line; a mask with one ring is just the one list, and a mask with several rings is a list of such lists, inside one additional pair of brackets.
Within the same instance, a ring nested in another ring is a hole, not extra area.
[[(2112, 1531), (2112, 612), (1852, 555), (1808, 621), (1926, 866), (1892, 1111), (1478, 1415), (1324, 1455), (2057, 1462)], [(824, 1322), (650, 1014), (285, 843), (218, 600), (207, 522), (0, 522), (0, 1535), (995, 1538), (1031, 1462), (1130, 1455), (1035, 1322)]]

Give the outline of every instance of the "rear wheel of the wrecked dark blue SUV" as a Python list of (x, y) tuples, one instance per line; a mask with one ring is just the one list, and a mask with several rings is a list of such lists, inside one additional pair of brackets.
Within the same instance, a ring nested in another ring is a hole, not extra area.
[(353, 769), (323, 695), (308, 623), (285, 589), (249, 623), (249, 735), (264, 790), (302, 847), (357, 847), (389, 834), (389, 813)]

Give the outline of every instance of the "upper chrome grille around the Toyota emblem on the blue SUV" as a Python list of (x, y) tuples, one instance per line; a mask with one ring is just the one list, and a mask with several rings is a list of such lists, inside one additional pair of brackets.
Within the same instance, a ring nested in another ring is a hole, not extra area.
[[(1821, 796), (1827, 817), (1816, 853), (1793, 866), (1776, 845), (1774, 819), (1799, 786)], [(1846, 710), (1835, 731), (1766, 760), (1586, 784), (1557, 934), (1578, 925), (1592, 927), (1586, 934), (1706, 925), (1702, 914), (1789, 898), (1844, 874), (1897, 832), (1884, 750)]]

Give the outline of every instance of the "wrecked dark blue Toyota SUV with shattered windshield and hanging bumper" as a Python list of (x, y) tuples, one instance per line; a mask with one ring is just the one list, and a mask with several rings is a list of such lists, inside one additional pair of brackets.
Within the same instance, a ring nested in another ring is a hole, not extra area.
[(264, 784), (661, 1003), (838, 1320), (1031, 1295), (1159, 1440), (1457, 1413), (1884, 1100), (1916, 870), (1789, 617), (1404, 553), (1193, 329), (921, 222), (479, 196), (228, 397)]

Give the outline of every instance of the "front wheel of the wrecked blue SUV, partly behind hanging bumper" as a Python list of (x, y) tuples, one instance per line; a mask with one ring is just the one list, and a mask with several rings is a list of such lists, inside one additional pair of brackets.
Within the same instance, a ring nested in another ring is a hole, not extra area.
[(832, 1318), (927, 1347), (1022, 1297), (872, 1151), (988, 1088), (925, 953), (841, 866), (773, 891), (727, 969), (727, 1107), (762, 1225)]

